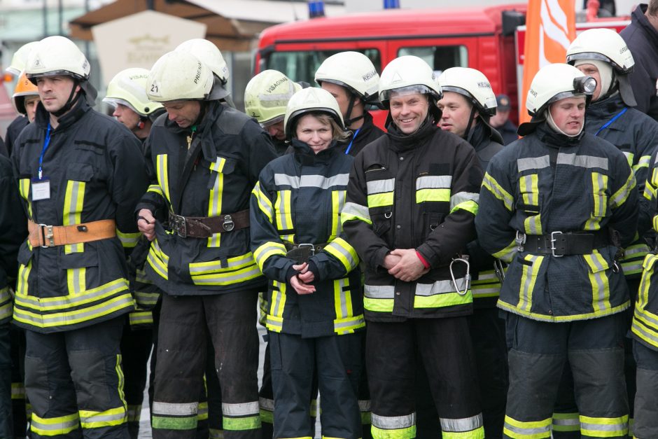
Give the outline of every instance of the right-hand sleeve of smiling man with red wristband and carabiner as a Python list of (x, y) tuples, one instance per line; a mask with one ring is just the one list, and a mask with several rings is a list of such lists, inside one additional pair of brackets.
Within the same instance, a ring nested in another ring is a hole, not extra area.
[(475, 239), (475, 215), (479, 198), (482, 167), (475, 150), (468, 144), (458, 146), (450, 188), (450, 213), (418, 251), (432, 267), (446, 265), (466, 244)]

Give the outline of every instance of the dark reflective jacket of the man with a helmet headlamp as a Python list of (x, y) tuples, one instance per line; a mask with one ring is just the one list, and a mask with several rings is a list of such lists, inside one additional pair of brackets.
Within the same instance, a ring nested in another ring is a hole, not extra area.
[[(545, 122), (489, 162), (475, 218), (479, 244), (510, 263), (498, 307), (541, 321), (593, 319), (629, 307), (614, 245), (554, 257), (519, 252), (517, 232), (600, 234), (633, 241), (638, 218), (635, 176), (624, 154), (589, 133), (570, 138)], [(614, 242), (613, 239), (611, 242)]]

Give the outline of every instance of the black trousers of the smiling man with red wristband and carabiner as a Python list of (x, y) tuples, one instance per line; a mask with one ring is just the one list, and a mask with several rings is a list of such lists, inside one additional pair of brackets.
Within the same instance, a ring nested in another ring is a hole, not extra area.
[(416, 351), (425, 365), (443, 437), (484, 438), (466, 317), (368, 322), (366, 368), (372, 398), (372, 437), (416, 436)]

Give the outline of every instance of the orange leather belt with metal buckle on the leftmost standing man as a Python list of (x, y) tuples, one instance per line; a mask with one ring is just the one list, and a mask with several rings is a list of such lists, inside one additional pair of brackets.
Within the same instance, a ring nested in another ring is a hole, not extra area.
[(91, 221), (73, 225), (45, 225), (27, 221), (29, 244), (34, 247), (54, 247), (116, 237), (114, 220)]

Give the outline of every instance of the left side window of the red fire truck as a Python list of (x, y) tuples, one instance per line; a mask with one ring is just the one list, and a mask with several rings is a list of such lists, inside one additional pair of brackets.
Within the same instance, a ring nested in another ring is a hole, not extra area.
[[(295, 52), (274, 52), (267, 57), (267, 69), (274, 69), (286, 74), (293, 81), (306, 81), (316, 85), (315, 72), (320, 64), (331, 55), (344, 50), (302, 50)], [(377, 49), (356, 49), (370, 58), (377, 73), (381, 73), (381, 55)]]

